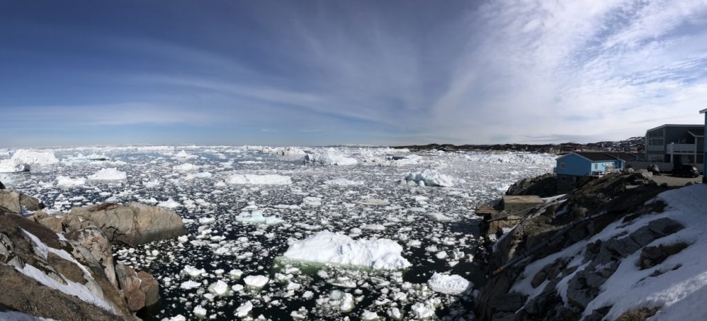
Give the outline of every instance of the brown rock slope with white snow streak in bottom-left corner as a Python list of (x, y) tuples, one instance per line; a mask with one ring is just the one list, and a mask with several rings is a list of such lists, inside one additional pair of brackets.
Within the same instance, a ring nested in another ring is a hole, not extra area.
[(137, 320), (90, 250), (0, 213), (0, 307), (54, 320)]

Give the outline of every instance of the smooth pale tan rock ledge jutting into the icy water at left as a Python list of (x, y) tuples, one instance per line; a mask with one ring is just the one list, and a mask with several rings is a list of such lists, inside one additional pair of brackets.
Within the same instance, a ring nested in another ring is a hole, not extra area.
[(137, 202), (74, 207), (71, 212), (58, 215), (37, 212), (32, 219), (54, 231), (66, 233), (96, 226), (111, 243), (128, 245), (174, 238), (187, 233), (182, 218), (173, 210)]

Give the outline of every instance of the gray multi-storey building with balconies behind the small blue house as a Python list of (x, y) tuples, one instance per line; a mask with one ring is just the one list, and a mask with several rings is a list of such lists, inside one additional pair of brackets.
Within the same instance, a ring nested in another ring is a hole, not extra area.
[(671, 164), (704, 164), (703, 125), (666, 124), (645, 132), (645, 160)]

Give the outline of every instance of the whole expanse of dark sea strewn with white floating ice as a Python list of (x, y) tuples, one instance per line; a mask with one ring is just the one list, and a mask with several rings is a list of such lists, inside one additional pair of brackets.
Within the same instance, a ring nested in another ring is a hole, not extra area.
[(474, 207), (554, 164), (384, 147), (76, 147), (0, 150), (0, 181), (57, 212), (132, 201), (177, 212), (186, 236), (113, 248), (160, 283), (144, 320), (474, 320), (485, 279)]

